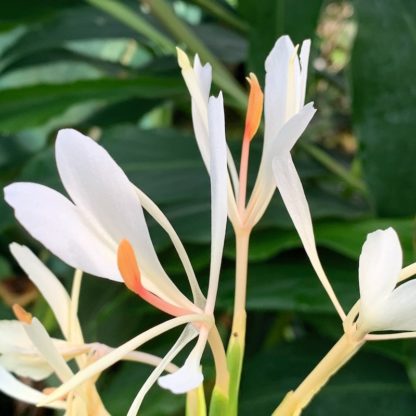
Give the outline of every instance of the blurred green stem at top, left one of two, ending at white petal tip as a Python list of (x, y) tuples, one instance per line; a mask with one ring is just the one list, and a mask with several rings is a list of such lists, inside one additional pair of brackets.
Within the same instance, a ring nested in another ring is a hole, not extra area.
[(124, 23), (126, 26), (132, 28), (136, 32), (149, 38), (157, 44), (163, 52), (176, 53), (175, 44), (165, 35), (156, 30), (143, 17), (126, 6), (120, 1), (116, 0), (86, 0), (97, 9), (101, 9), (113, 16), (115, 19)]

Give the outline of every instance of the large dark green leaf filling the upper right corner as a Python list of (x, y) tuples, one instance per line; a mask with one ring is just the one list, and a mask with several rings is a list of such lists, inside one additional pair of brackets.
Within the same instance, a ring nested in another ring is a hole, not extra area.
[(416, 207), (416, 3), (354, 1), (358, 33), (351, 58), (354, 129), (364, 178), (383, 216)]

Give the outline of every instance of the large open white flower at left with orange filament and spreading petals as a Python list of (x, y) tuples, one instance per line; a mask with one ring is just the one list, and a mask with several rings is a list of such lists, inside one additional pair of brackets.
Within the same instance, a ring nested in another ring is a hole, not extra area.
[[(131, 184), (99, 144), (81, 133), (61, 130), (56, 141), (58, 170), (73, 202), (42, 185), (16, 183), (5, 188), (6, 201), (14, 208), (16, 218), (51, 252), (71, 266), (93, 275), (124, 280), (126, 286), (144, 300), (175, 316), (90, 364), (42, 400), (41, 404), (64, 396), (145, 342), (183, 324), (188, 325), (140, 389), (128, 414), (137, 413), (146, 392), (196, 336), (198, 341), (185, 365), (171, 376), (162, 377), (160, 384), (176, 393), (197, 387), (203, 380), (200, 360), (209, 341), (217, 368), (217, 383), (227, 394), (225, 352), (213, 325), (227, 222), (227, 153), (221, 94), (218, 98), (209, 99), (207, 115), (212, 243), (206, 299), (183, 245), (166, 217)], [(141, 204), (170, 235), (187, 272), (193, 301), (177, 289), (163, 270), (152, 245)]]

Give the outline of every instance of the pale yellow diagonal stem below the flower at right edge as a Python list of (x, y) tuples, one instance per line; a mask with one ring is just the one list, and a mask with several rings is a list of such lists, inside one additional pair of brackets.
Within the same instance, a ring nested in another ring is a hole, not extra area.
[(299, 416), (328, 380), (361, 348), (364, 340), (344, 334), (322, 361), (303, 380), (295, 391), (290, 391), (273, 416)]

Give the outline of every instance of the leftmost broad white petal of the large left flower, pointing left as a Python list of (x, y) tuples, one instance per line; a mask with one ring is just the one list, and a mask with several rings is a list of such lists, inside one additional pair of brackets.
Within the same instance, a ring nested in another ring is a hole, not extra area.
[(96, 276), (121, 281), (115, 252), (100, 238), (67, 198), (34, 183), (14, 183), (5, 200), (18, 221), (65, 263)]

